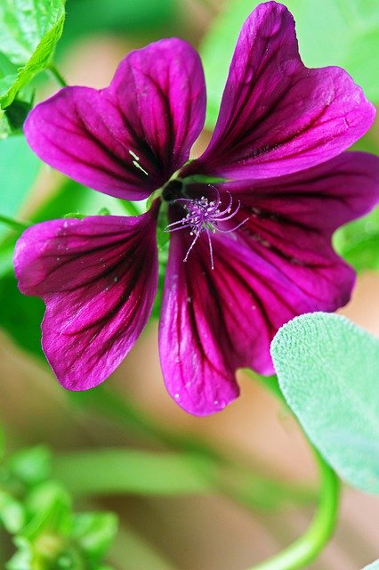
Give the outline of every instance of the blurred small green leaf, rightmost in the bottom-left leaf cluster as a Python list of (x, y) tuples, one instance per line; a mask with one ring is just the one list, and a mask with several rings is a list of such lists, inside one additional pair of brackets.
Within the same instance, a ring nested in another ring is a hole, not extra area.
[(93, 563), (101, 562), (117, 534), (117, 517), (113, 513), (83, 513), (73, 521), (71, 537)]

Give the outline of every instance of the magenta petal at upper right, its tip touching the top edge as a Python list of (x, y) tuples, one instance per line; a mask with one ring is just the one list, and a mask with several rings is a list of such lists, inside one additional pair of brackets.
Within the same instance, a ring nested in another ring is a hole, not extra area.
[(346, 150), (374, 117), (343, 69), (304, 67), (284, 5), (260, 4), (238, 38), (214, 136), (191, 167), (230, 179), (296, 172)]

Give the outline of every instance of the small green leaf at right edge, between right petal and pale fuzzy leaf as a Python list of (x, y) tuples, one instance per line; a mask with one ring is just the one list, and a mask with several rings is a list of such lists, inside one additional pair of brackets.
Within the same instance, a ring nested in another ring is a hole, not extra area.
[(333, 237), (336, 251), (358, 273), (379, 271), (379, 208), (344, 225)]

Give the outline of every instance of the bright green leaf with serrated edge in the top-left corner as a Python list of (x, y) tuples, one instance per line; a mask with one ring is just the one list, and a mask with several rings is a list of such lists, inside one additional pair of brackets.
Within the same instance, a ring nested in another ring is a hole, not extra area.
[(49, 67), (63, 30), (64, 4), (65, 0), (3, 0), (0, 4), (0, 52), (18, 68), (17, 74), (2, 78), (2, 109)]

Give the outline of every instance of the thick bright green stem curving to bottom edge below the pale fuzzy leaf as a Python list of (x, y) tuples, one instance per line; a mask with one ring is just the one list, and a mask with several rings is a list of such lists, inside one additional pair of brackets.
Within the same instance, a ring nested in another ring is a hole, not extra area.
[(319, 464), (321, 488), (319, 507), (308, 530), (285, 550), (250, 570), (298, 570), (318, 557), (335, 530), (339, 481), (333, 469), (313, 450)]

